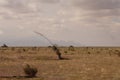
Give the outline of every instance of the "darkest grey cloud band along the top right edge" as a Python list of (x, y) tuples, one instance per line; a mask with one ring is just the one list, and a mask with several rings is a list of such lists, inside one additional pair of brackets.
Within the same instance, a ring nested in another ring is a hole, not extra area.
[(75, 6), (87, 10), (119, 9), (120, 0), (74, 0)]

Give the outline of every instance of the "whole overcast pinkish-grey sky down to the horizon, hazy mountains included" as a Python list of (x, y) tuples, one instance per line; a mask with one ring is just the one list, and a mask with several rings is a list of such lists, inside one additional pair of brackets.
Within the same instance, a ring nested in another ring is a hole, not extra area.
[(120, 0), (0, 0), (0, 45), (120, 46)]

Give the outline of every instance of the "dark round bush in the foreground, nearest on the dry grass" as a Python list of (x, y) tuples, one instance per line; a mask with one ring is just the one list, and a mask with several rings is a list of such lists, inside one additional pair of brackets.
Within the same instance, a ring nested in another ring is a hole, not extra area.
[(37, 68), (31, 67), (29, 64), (26, 64), (24, 72), (27, 75), (27, 77), (35, 77), (38, 70)]

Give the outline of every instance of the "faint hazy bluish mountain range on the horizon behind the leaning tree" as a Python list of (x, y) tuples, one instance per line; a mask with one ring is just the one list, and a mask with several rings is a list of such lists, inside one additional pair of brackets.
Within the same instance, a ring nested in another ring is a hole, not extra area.
[[(58, 46), (83, 46), (79, 42), (73, 42), (73, 41), (57, 41), (52, 40), (53, 44), (56, 44)], [(51, 45), (47, 40), (45, 39), (18, 39), (18, 40), (4, 40), (0, 42), (0, 45), (7, 44), (9, 46), (49, 46)]]

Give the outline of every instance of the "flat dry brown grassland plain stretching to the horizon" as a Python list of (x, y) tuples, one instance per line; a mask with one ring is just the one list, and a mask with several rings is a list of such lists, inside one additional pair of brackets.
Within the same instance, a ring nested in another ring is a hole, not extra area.
[[(0, 80), (120, 80), (120, 48), (59, 49), (64, 60), (47, 47), (0, 48)], [(25, 64), (37, 77), (20, 77)]]

